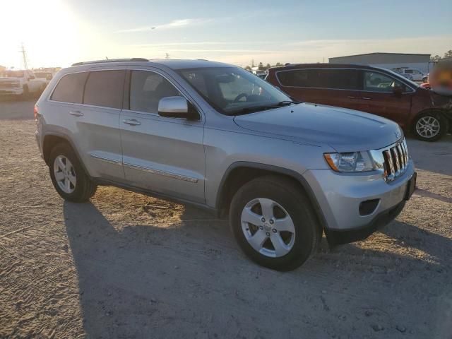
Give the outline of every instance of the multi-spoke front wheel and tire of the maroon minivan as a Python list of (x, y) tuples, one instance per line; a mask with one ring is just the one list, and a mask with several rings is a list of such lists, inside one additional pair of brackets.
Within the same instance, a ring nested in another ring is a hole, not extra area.
[(447, 121), (439, 112), (419, 114), (412, 124), (412, 133), (422, 141), (438, 141), (447, 131)]

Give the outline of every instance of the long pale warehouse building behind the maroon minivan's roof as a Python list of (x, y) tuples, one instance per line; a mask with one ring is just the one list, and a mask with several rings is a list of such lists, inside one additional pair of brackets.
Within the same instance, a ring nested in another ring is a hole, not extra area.
[(347, 57), (329, 58), (330, 64), (366, 64), (381, 67), (383, 69), (395, 69), (408, 67), (418, 69), (427, 74), (432, 69), (430, 54), (406, 54), (406, 53), (368, 53), (349, 55)]

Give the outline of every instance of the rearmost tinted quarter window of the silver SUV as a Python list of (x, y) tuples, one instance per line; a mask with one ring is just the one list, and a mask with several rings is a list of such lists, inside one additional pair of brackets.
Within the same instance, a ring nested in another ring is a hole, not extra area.
[(83, 86), (85, 85), (87, 77), (87, 72), (73, 73), (64, 76), (59, 81), (50, 99), (81, 104), (83, 100)]

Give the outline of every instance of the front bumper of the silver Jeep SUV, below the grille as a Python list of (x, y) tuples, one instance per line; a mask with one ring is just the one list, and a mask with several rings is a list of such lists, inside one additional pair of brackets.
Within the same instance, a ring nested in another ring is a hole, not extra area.
[[(374, 229), (381, 225), (382, 220), (387, 219), (382, 215), (390, 216), (390, 220), (386, 223), (391, 221), (391, 215), (395, 215), (392, 216), (392, 219), (395, 218), (398, 213), (393, 212), (400, 206), (400, 210), (403, 208), (407, 184), (414, 172), (415, 167), (410, 160), (405, 173), (392, 182), (385, 182), (381, 173), (340, 174), (331, 169), (310, 169), (303, 176), (311, 186), (323, 212), (328, 237), (328, 233), (333, 234), (333, 232), (353, 232), (365, 229), (374, 232)], [(363, 215), (360, 213), (359, 206), (366, 201), (377, 202), (376, 207), (372, 208), (370, 213)], [(369, 234), (360, 239), (364, 239)], [(356, 240), (358, 239), (351, 241)], [(329, 241), (330, 239), (328, 239)]]

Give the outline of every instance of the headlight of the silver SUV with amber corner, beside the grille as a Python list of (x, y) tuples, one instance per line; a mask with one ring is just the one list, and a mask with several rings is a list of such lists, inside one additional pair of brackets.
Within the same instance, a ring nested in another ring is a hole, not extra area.
[(369, 152), (325, 153), (331, 169), (336, 172), (369, 172), (376, 169)]

